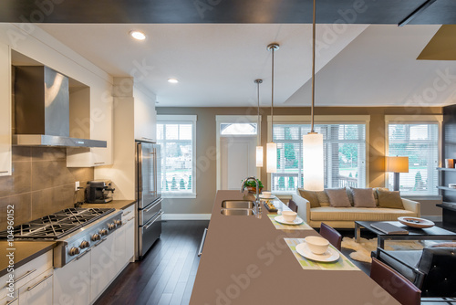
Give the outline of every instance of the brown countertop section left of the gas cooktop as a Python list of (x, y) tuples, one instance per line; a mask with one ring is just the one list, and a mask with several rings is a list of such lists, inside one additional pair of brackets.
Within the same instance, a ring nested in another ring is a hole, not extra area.
[[(15, 253), (15, 269), (57, 246), (54, 241), (15, 241), (14, 243), (16, 250), (11, 252)], [(10, 252), (7, 248), (9, 248), (8, 242), (0, 241), (0, 277), (7, 273), (9, 259), (6, 254)]]

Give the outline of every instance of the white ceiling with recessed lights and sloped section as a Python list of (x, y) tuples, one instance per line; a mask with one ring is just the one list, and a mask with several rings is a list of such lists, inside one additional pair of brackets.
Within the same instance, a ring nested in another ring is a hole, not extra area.
[[(157, 94), (162, 107), (256, 105), (254, 79), (264, 79), (261, 103), (270, 105), (271, 52), (266, 46), (277, 42), (275, 105), (310, 104), (311, 25), (40, 27), (109, 74), (135, 77), (140, 87)], [(415, 59), (438, 28), (318, 25), (316, 105), (403, 105), (414, 92), (432, 86), (437, 69), (456, 69), (454, 61)], [(142, 30), (148, 38), (133, 41), (131, 29)], [(146, 67), (143, 73), (139, 66)], [(179, 84), (168, 83), (170, 78)], [(451, 103), (440, 95), (432, 105)]]

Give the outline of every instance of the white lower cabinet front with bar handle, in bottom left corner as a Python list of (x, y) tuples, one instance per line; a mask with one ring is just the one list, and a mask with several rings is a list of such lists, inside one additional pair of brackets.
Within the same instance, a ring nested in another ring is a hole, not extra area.
[(53, 269), (30, 280), (19, 289), (19, 305), (52, 304)]

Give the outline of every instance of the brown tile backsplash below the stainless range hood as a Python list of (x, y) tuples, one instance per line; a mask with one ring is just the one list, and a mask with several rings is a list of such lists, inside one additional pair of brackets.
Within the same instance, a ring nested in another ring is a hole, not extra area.
[(93, 180), (93, 168), (68, 168), (65, 148), (13, 146), (13, 174), (0, 177), (0, 230), (6, 207), (15, 205), (15, 226), (73, 207), (84, 198), (75, 182)]

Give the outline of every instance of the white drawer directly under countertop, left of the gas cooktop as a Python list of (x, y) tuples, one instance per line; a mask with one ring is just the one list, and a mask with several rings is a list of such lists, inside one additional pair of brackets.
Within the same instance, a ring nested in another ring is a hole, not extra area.
[[(52, 268), (52, 251), (47, 251), (47, 253), (35, 258), (25, 265), (22, 265), (19, 268), (16, 268), (14, 271), (14, 288), (19, 289), (22, 287), (26, 282), (35, 279), (37, 276), (45, 272), (47, 269)], [(5, 274), (0, 279), (0, 300), (6, 297), (7, 290), (6, 290), (6, 280), (9, 279), (9, 274)]]

